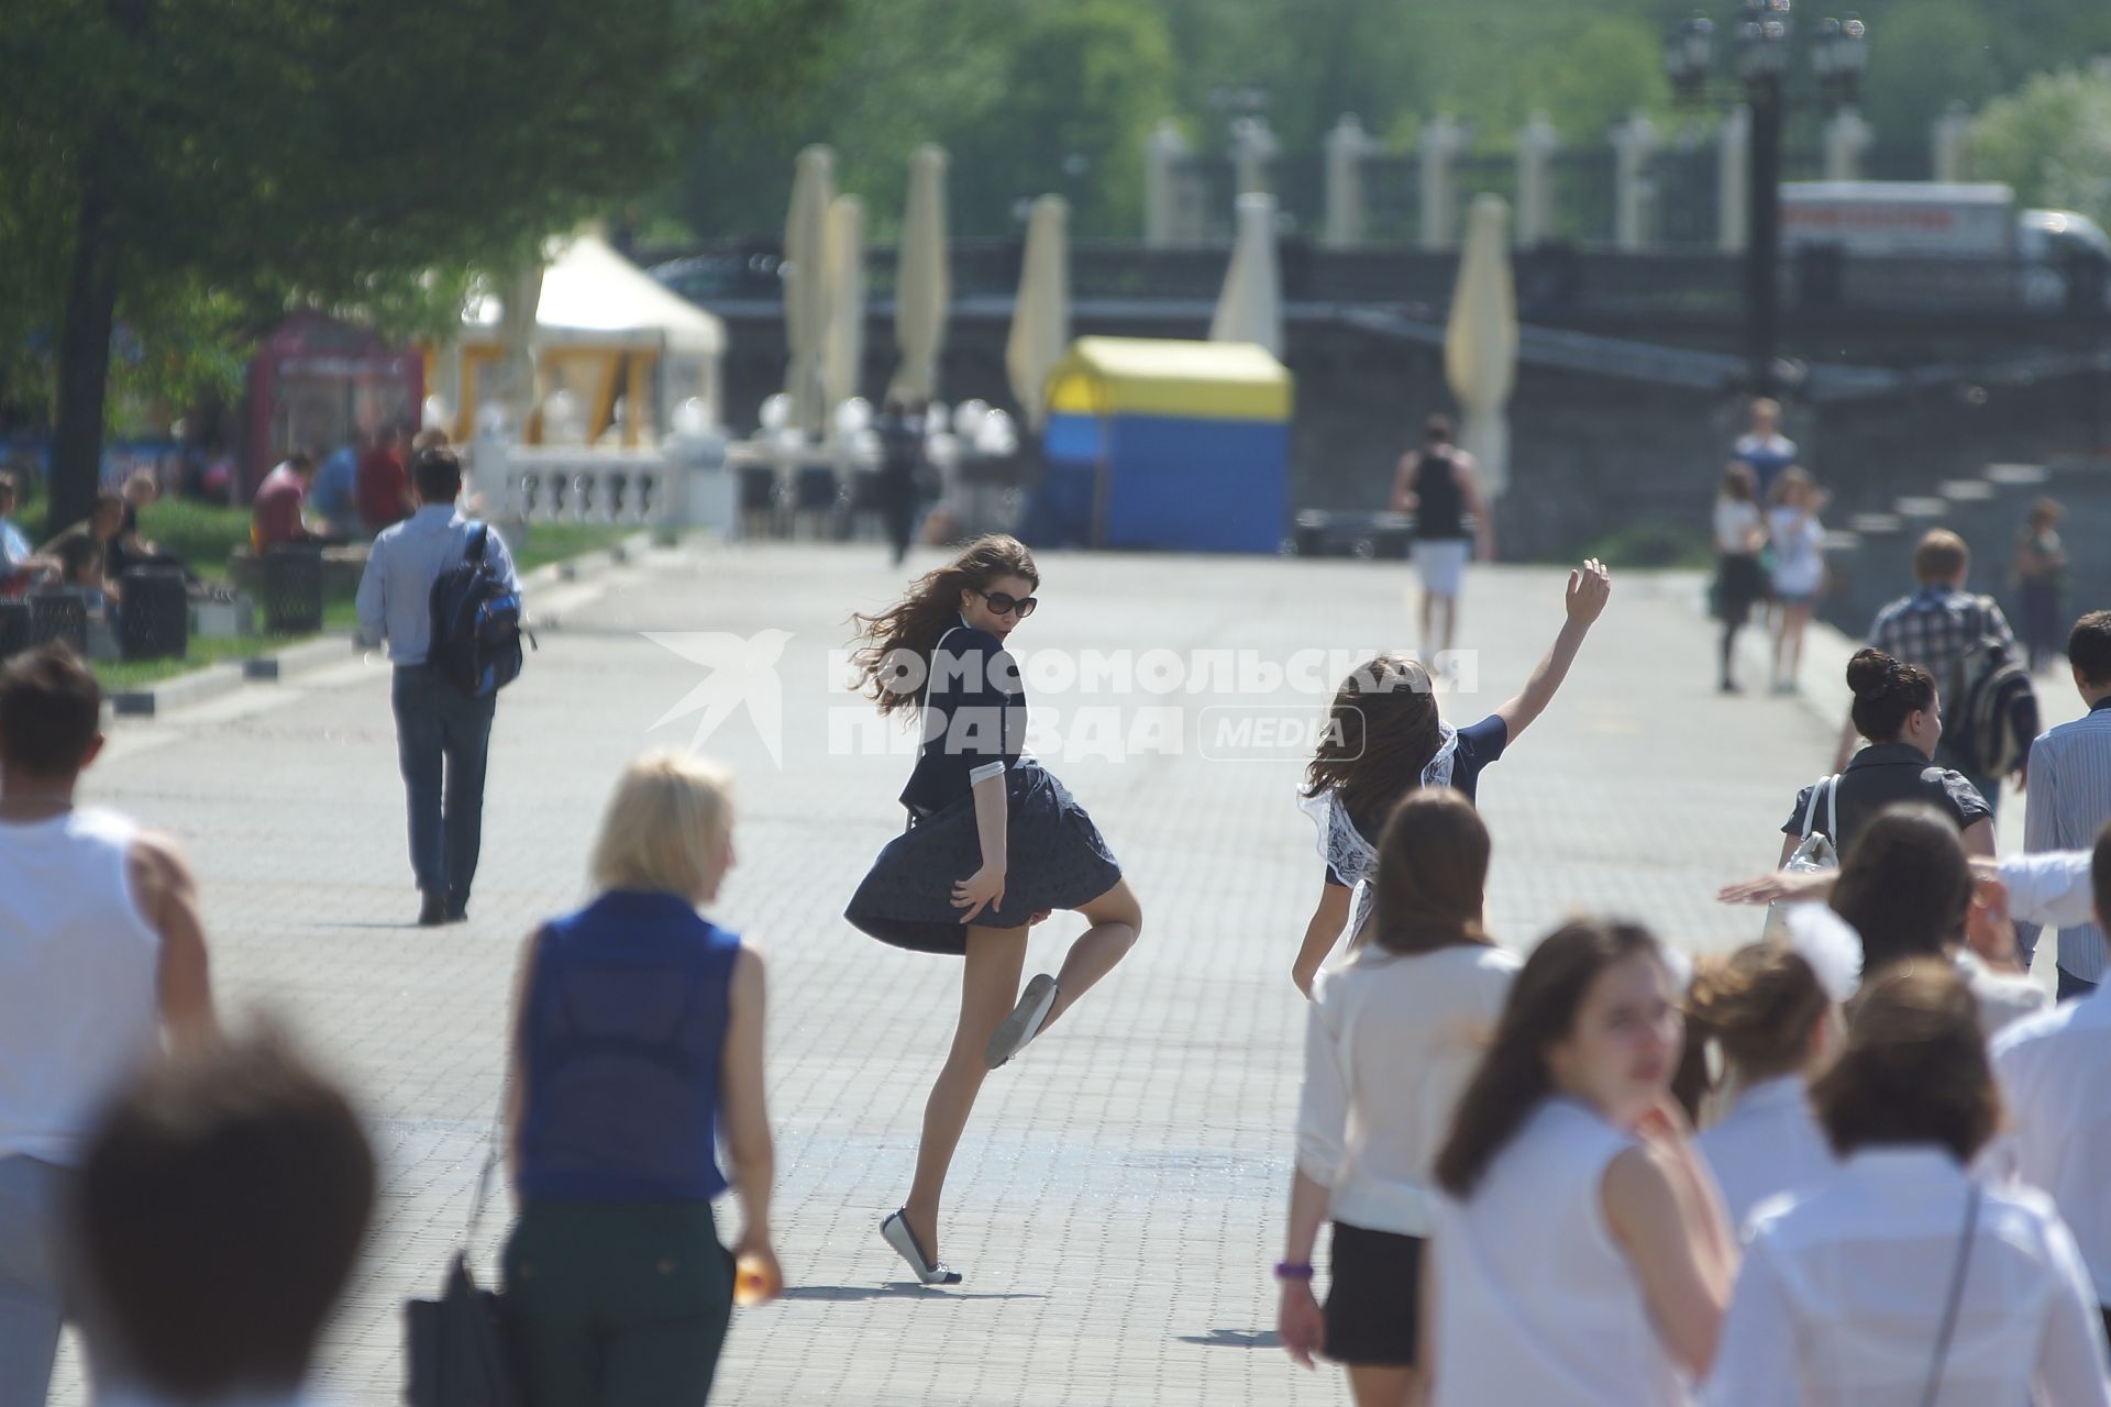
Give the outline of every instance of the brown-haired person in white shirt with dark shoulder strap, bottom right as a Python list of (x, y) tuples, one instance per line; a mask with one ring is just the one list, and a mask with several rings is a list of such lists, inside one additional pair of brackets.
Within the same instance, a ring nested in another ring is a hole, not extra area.
[(2067, 1226), (1965, 1175), (2001, 1101), (1955, 968), (1870, 977), (1811, 1097), (1843, 1164), (1754, 1217), (1710, 1407), (2111, 1407)]

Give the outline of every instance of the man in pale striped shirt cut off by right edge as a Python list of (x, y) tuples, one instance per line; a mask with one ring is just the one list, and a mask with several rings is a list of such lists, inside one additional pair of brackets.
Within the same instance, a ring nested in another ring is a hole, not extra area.
[[(2067, 635), (2067, 662), (2088, 713), (2031, 745), (2024, 850), (2081, 850), (2111, 821), (2111, 612), (2090, 612)], [(2105, 930), (2060, 928), (2060, 989), (2088, 996), (2103, 981)]]

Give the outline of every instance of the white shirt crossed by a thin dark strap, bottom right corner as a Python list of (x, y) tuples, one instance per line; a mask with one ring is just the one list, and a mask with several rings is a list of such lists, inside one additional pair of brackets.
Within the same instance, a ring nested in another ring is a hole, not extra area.
[[(1708, 1375), (1710, 1407), (1919, 1407), (1965, 1230), (1965, 1171), (1862, 1148), (1758, 1209)], [(1942, 1407), (2111, 1407), (2103, 1321), (2052, 1202), (1984, 1192)]]

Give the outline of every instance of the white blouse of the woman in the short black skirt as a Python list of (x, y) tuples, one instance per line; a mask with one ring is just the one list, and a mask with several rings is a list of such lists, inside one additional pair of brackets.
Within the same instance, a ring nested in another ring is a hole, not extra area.
[(1298, 1171), (1328, 1215), (1429, 1234), (1429, 1167), (1524, 962), (1461, 943), (1397, 958), (1366, 945), (1313, 983)]

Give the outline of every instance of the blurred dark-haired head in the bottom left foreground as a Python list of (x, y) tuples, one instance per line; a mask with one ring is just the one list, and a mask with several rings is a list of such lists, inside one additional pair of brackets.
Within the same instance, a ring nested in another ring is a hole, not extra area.
[(80, 1171), (74, 1245), (129, 1407), (296, 1407), (374, 1211), (344, 1095), (277, 1036), (160, 1063)]

